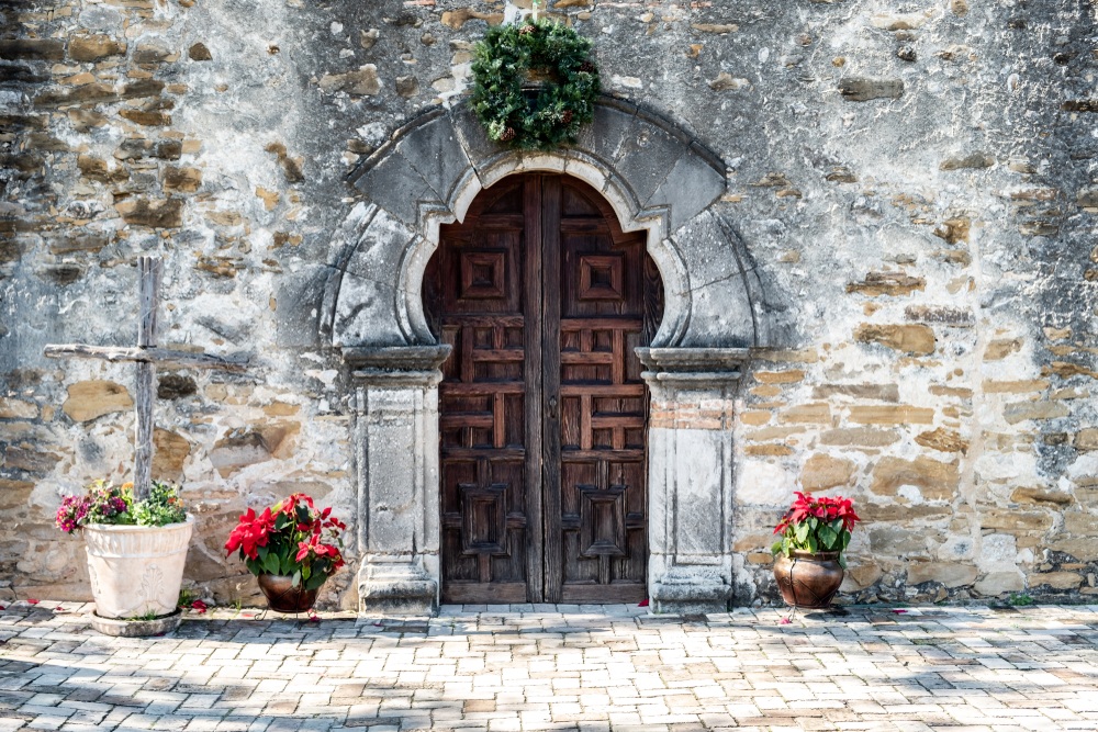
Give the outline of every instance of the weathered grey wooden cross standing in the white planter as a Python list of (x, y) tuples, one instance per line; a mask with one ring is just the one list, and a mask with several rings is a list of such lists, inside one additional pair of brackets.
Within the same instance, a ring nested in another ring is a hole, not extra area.
[(45, 356), (52, 359), (100, 359), (103, 361), (134, 361), (137, 363), (137, 387), (134, 399), (137, 412), (134, 458), (134, 499), (148, 498), (153, 487), (153, 404), (156, 399), (156, 364), (184, 369), (220, 369), (244, 371), (247, 361), (229, 361), (205, 353), (186, 353), (156, 347), (157, 311), (160, 305), (160, 274), (163, 261), (158, 257), (137, 258), (137, 347), (112, 348), (72, 344), (46, 346)]

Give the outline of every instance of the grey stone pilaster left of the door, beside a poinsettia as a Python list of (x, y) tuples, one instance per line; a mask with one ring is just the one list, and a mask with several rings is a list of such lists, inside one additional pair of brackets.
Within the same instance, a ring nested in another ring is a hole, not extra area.
[(449, 346), (345, 349), (356, 384), (359, 609), (438, 611), (438, 370)]

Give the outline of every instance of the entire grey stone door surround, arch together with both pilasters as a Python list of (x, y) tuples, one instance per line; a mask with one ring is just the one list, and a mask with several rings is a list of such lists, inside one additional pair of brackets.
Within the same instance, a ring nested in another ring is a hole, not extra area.
[(725, 166), (649, 112), (601, 100), (574, 147), (507, 150), (466, 108), (393, 133), (348, 182), (368, 201), (333, 237), (322, 338), (356, 382), (359, 593), (365, 611), (432, 611), (438, 597), (438, 365), (421, 284), (441, 224), (531, 170), (575, 176), (647, 230), (664, 319), (641, 359), (652, 393), (649, 594), (662, 611), (724, 608), (731, 594), (731, 424), (748, 348), (769, 345), (753, 264), (714, 206)]

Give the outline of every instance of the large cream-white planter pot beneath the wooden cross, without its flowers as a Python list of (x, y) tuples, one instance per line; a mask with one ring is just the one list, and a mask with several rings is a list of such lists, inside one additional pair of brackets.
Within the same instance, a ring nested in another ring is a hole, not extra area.
[(175, 612), (194, 517), (167, 526), (83, 527), (96, 612), (136, 618)]

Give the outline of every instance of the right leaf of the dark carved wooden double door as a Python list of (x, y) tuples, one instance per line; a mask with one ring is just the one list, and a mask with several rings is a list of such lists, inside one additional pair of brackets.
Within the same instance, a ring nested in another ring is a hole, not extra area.
[(634, 350), (659, 325), (662, 283), (645, 234), (590, 187), (554, 177), (542, 202), (546, 601), (639, 601), (649, 399)]

